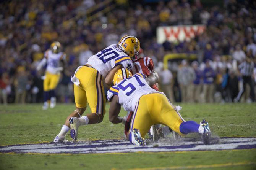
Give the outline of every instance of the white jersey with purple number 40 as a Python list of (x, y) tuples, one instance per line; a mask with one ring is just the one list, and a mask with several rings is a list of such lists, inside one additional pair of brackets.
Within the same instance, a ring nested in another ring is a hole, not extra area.
[(131, 58), (118, 48), (116, 44), (112, 44), (91, 56), (86, 64), (99, 71), (104, 78), (116, 65), (122, 64), (123, 68), (127, 68), (129, 71), (133, 67)]

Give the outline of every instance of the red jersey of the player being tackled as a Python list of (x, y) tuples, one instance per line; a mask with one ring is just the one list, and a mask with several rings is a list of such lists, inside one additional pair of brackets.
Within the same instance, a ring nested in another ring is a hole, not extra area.
[[(153, 60), (149, 57), (141, 57), (133, 61), (133, 68), (131, 70), (131, 73), (133, 75), (135, 73), (143, 73), (144, 75), (149, 76), (149, 74), (153, 69), (154, 69)], [(156, 84), (154, 84), (152, 88), (158, 91)]]

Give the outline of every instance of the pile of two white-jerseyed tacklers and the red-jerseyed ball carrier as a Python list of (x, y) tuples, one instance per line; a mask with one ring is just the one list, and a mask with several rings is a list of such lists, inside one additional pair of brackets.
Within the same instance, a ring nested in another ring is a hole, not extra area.
[[(146, 145), (144, 136), (154, 124), (166, 125), (180, 135), (200, 133), (204, 143), (210, 143), (211, 131), (205, 120), (200, 124), (185, 121), (165, 94), (156, 90), (158, 75), (152, 71), (152, 60), (147, 57), (137, 59), (139, 49), (139, 40), (127, 35), (118, 44), (112, 44), (91, 56), (85, 65), (77, 68), (71, 77), (76, 110), (68, 116), (53, 142), (67, 142), (65, 135), (69, 130), (71, 138), (77, 140), (79, 126), (102, 122), (106, 100), (104, 79), (107, 85), (112, 86), (107, 92), (110, 102), (109, 120), (114, 124), (126, 122), (126, 138), (131, 143)], [(132, 76), (130, 71), (133, 64)], [(87, 103), (92, 113), (81, 116)], [(131, 112), (128, 121), (118, 116), (121, 106)]]

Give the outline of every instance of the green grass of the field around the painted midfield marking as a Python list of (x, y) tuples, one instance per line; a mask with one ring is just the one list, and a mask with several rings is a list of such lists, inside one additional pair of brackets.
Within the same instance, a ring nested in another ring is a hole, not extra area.
[[(255, 104), (179, 104), (185, 120), (206, 118), (219, 137), (256, 137)], [(74, 104), (47, 111), (35, 105), (0, 105), (0, 145), (52, 142)], [(123, 125), (108, 120), (79, 127), (78, 140), (123, 138)], [(89, 109), (86, 111), (89, 113)], [(122, 110), (121, 115), (125, 115)], [(66, 136), (71, 140), (69, 135)], [(169, 153), (10, 154), (0, 153), (0, 169), (256, 169), (256, 149)]]

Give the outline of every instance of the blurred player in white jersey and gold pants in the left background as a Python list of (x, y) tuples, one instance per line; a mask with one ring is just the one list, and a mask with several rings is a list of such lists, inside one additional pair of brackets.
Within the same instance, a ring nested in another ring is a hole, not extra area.
[[(60, 63), (62, 62), (62, 65)], [(66, 66), (66, 54), (61, 51), (61, 44), (55, 41), (51, 44), (50, 49), (45, 51), (44, 58), (37, 65), (37, 71), (41, 70), (47, 64), (44, 78), (44, 105), (43, 110), (49, 107), (54, 108), (56, 105), (55, 88), (60, 79), (60, 71)]]

